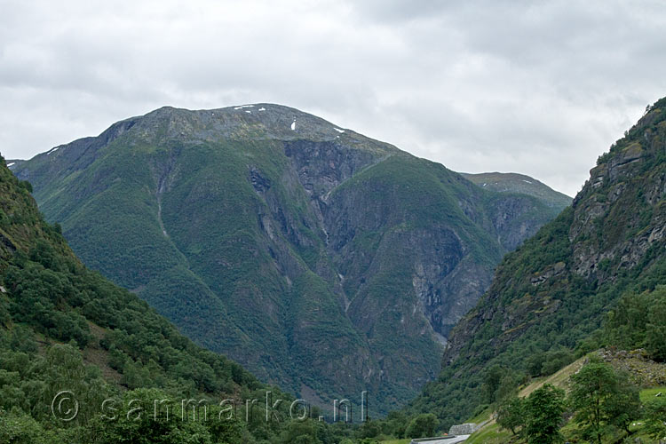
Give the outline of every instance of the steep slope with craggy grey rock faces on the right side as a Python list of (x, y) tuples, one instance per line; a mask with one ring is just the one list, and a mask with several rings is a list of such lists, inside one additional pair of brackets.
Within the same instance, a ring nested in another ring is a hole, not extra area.
[(437, 381), (410, 408), (452, 424), (492, 402), (484, 377), (493, 369), (540, 376), (572, 361), (575, 348), (599, 346), (597, 329), (623, 293), (649, 298), (666, 282), (665, 198), (661, 99), (599, 157), (572, 206), (503, 258), (452, 330)]

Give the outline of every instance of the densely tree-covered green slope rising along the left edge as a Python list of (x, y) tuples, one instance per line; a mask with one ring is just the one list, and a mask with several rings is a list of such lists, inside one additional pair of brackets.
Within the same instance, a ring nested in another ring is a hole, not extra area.
[[(241, 396), (262, 399), (266, 390), (293, 397), (194, 345), (145, 301), (86, 269), (29, 189), (0, 156), (1, 442), (268, 442), (289, 426), (261, 424), (257, 439), (256, 426), (239, 420), (181, 421), (178, 405), (178, 420), (123, 421), (130, 400), (136, 413), (153, 412), (152, 400), (242, 404)], [(99, 418), (114, 412), (123, 412), (117, 421)]]

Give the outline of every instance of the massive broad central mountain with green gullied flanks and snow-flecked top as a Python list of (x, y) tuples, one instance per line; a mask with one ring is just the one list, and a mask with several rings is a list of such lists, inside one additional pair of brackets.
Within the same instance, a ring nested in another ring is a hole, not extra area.
[(552, 207), (273, 104), (163, 107), (13, 172), (83, 262), (197, 344), (315, 403), (376, 412)]

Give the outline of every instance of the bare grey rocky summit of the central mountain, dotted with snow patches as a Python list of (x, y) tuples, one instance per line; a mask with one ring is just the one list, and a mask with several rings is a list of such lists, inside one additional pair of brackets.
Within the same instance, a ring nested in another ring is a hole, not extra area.
[[(384, 157), (400, 152), (390, 144), (369, 139), (361, 134), (329, 123), (321, 117), (273, 103), (256, 103), (191, 110), (160, 107), (146, 115), (133, 116), (112, 124), (98, 137), (85, 137), (53, 147), (36, 155), (44, 162), (64, 156), (72, 168), (87, 166), (99, 155), (99, 150), (119, 143), (132, 146), (180, 146), (218, 144), (249, 140), (293, 142), (308, 140), (329, 143), (340, 149), (365, 152), (372, 157)], [(12, 161), (16, 168), (23, 161)]]

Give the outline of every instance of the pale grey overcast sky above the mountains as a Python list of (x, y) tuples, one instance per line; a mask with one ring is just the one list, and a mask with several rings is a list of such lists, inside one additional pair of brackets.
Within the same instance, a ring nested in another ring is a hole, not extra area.
[(657, 0), (0, 0), (6, 158), (164, 105), (274, 102), (574, 195), (662, 96)]

